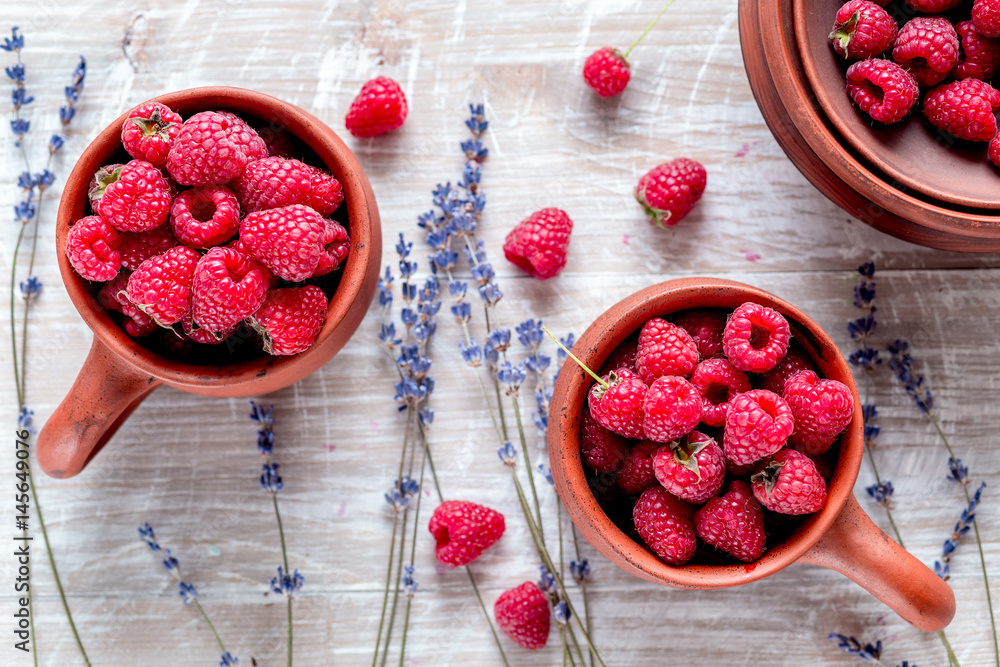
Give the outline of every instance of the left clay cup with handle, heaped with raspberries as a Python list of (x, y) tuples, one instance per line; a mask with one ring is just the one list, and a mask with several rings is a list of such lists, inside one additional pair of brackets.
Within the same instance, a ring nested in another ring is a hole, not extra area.
[(59, 268), (94, 332), (38, 439), (78, 473), (160, 384), (210, 396), (286, 387), (357, 329), (381, 261), (378, 209), (344, 143), (262, 93), (197, 88), (126, 112), (63, 190)]

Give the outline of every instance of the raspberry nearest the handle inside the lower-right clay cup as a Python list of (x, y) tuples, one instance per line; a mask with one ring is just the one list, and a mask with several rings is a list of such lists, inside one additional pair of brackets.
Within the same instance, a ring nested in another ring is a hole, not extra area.
[(826, 482), (816, 464), (794, 449), (782, 449), (750, 478), (760, 504), (780, 514), (812, 514), (826, 505)]

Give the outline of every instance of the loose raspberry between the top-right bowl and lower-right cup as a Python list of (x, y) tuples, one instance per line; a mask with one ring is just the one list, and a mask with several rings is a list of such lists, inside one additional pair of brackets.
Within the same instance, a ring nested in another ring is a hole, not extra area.
[(701, 164), (681, 157), (650, 169), (639, 179), (635, 198), (657, 226), (673, 227), (701, 199), (707, 181)]

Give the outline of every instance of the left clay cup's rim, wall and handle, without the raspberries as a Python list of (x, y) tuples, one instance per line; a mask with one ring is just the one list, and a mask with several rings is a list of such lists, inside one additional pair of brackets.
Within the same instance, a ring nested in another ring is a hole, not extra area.
[[(337, 270), (326, 323), (316, 342), (298, 355), (264, 353), (191, 363), (153, 351), (130, 338), (101, 307), (97, 288), (70, 266), (63, 248), (69, 226), (87, 214), (87, 190), (102, 165), (126, 162), (120, 134), (123, 114), (90, 144), (63, 189), (56, 220), (59, 270), (70, 299), (94, 332), (90, 355), (69, 394), (37, 440), (38, 462), (53, 477), (72, 477), (114, 435), (153, 390), (166, 384), (206, 396), (251, 396), (287, 387), (329, 361), (350, 339), (371, 303), (378, 281), (382, 235), (371, 185), (357, 159), (334, 132), (312, 115), (274, 97), (227, 87), (194, 88), (154, 98), (188, 118), (198, 111), (228, 110), (265, 132), (284, 131), (311, 151), (343, 185), (344, 202), (334, 218), (347, 227), (351, 249)], [(339, 216), (339, 217), (338, 217)], [(249, 348), (248, 343), (248, 348)], [(213, 348), (214, 349), (214, 348)], [(230, 352), (232, 350), (229, 350)]]

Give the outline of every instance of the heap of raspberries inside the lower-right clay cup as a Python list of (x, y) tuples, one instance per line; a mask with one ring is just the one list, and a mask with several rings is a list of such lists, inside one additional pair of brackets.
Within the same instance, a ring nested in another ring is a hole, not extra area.
[(671, 320), (649, 320), (604, 363), (581, 457), (605, 511), (663, 561), (686, 563), (699, 541), (709, 561), (757, 560), (826, 504), (854, 399), (789, 347), (788, 321), (771, 308)]

